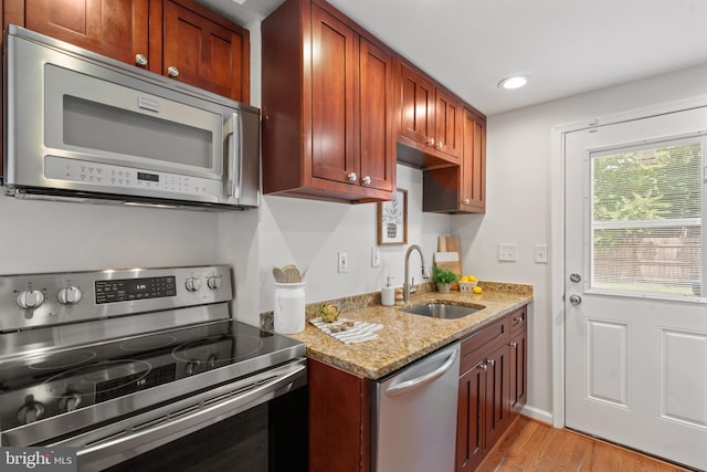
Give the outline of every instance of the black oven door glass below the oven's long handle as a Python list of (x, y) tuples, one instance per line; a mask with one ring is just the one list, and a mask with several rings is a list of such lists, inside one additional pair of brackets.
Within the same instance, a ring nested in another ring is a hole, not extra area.
[(107, 471), (306, 472), (307, 415), (299, 388)]

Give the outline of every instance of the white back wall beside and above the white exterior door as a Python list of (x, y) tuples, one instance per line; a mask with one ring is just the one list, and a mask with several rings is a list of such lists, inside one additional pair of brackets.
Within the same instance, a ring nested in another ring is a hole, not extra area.
[[(551, 243), (552, 127), (704, 95), (707, 65), (488, 118), (486, 214), (452, 217), (452, 230), (462, 240), (465, 272), (535, 286), (528, 406), (539, 418), (550, 420), (552, 410), (551, 274), (549, 264), (532, 262), (532, 251)], [(519, 245), (518, 262), (497, 261), (499, 242)]]

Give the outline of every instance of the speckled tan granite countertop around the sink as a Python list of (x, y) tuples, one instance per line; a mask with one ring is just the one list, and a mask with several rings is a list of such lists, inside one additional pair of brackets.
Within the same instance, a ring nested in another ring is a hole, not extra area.
[[(288, 336), (306, 344), (307, 357), (376, 380), (532, 301), (530, 285), (479, 282), (479, 286), (484, 292), (478, 295), (428, 292), (413, 295), (409, 304), (445, 301), (485, 306), (458, 319), (412, 315), (402, 312), (403, 306), (376, 304), (346, 311), (341, 317), (380, 323), (383, 328), (377, 332), (379, 339), (344, 344), (310, 323), (304, 332)], [(312, 316), (308, 314), (308, 317)]]

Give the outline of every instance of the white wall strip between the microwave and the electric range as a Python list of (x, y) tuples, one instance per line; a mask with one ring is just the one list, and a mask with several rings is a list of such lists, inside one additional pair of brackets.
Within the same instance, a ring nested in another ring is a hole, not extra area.
[(0, 274), (210, 264), (218, 239), (215, 213), (0, 195)]

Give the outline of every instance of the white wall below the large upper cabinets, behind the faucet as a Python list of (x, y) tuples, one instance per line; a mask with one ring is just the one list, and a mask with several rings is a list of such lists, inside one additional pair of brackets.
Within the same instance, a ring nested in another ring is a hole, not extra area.
[[(377, 203), (333, 203), (285, 197), (264, 198), (260, 225), (260, 306), (273, 310), (272, 269), (286, 264), (309, 268), (307, 303), (380, 290), (388, 275), (403, 283), (403, 259), (410, 244), (420, 244), (428, 265), (436, 238), (450, 231), (450, 218), (422, 213), (422, 172), (398, 166), (398, 187), (408, 190), (408, 244), (378, 247)], [(381, 253), (380, 268), (371, 268), (371, 248)], [(337, 272), (337, 253), (348, 253), (349, 271)], [(411, 256), (410, 274), (420, 281), (420, 259)]]

